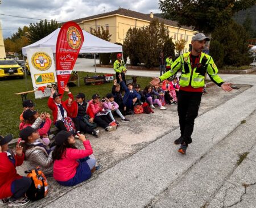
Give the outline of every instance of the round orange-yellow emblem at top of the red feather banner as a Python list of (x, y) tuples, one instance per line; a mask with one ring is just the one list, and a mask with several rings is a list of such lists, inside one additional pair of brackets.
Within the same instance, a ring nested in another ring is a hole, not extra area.
[(67, 31), (68, 45), (73, 49), (79, 49), (82, 43), (82, 37), (79, 30), (76, 27), (69, 27)]

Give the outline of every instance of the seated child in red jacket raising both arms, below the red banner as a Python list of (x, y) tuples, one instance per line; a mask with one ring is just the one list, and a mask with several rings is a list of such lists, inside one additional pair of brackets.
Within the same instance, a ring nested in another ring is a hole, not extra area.
[[(64, 131), (71, 131), (73, 134), (79, 133), (79, 121), (76, 115), (71, 112), (75, 112), (73, 108), (77, 108), (77, 104), (73, 101), (74, 97), (67, 85), (64, 87), (64, 91), (68, 93), (68, 100), (62, 101), (54, 88), (51, 89), (51, 96), (48, 99), (48, 107), (52, 110), (53, 123), (55, 126)], [(77, 111), (77, 110), (76, 110)]]

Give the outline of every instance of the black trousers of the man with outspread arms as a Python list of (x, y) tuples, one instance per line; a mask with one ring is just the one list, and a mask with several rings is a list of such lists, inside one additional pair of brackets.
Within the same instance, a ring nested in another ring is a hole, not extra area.
[(177, 111), (179, 114), (180, 134), (187, 144), (192, 142), (191, 135), (194, 129), (194, 121), (199, 111), (201, 97), (201, 92), (179, 91)]

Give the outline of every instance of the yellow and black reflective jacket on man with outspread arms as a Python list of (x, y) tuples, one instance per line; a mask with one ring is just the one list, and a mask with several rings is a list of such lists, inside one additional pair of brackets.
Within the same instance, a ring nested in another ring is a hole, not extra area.
[[(218, 76), (218, 68), (215, 65), (212, 57), (210, 57), (208, 54), (201, 53), (200, 57), (200, 66), (195, 67), (192, 69), (189, 54), (184, 53), (181, 54), (171, 65), (171, 70), (164, 73), (159, 79), (163, 81), (164, 79), (167, 79), (177, 73), (177, 71), (181, 70), (181, 77), (180, 77), (180, 86), (181, 87), (187, 87), (189, 84), (191, 84), (192, 87), (198, 88), (198, 87), (204, 87), (204, 76), (205, 73), (207, 73), (215, 84), (217, 86), (221, 86), (221, 84), (224, 83), (224, 81)], [(193, 70), (193, 75), (191, 77), (191, 71)]]

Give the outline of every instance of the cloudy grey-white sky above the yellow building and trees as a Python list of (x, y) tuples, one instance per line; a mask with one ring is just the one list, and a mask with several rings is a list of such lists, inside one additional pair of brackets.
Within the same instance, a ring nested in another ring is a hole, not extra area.
[[(3, 37), (9, 37), (18, 28), (28, 26), (40, 20), (15, 18), (15, 15), (35, 19), (56, 19), (65, 22), (72, 19), (102, 14), (105, 11), (117, 10), (118, 7), (142, 12), (144, 14), (159, 13), (158, 0), (0, 0), (0, 20)], [(5, 14), (5, 15), (2, 15)]]

